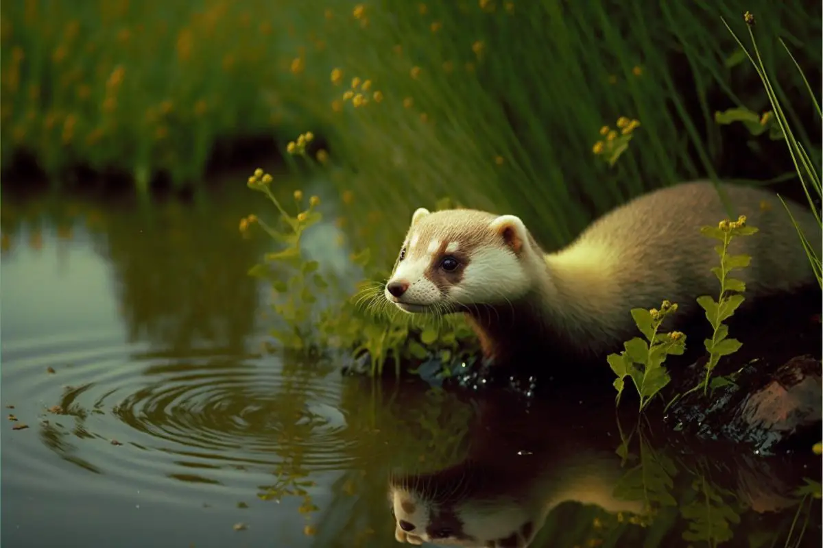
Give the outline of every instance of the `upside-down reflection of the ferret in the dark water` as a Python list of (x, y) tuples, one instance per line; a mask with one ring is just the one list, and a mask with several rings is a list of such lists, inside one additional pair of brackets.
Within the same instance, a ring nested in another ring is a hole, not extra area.
[(529, 546), (560, 503), (640, 513), (642, 503), (612, 495), (621, 477), (613, 452), (551, 457), (510, 450), (469, 458), (426, 474), (393, 474), (388, 497), (398, 542), (479, 548)]

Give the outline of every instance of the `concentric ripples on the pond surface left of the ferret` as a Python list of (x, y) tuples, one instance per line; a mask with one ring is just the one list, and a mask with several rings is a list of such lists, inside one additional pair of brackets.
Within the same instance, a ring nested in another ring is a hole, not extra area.
[(221, 486), (242, 500), (295, 455), (305, 474), (352, 458), (338, 375), (286, 375), (239, 352), (149, 352), (119, 334), (3, 343), (3, 404), (29, 426), (3, 429), (3, 468), (27, 488), (88, 491), (61, 464), (72, 463), (115, 480), (95, 489), (190, 501), (192, 489)]

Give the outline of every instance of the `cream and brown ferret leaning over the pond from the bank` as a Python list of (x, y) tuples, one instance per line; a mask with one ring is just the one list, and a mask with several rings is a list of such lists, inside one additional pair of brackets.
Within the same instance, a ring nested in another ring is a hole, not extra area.
[[(811, 287), (813, 270), (778, 197), (754, 187), (719, 187), (732, 211), (760, 229), (734, 237), (728, 249), (751, 256), (748, 267), (732, 271), (746, 283), (746, 301)], [(787, 205), (819, 248), (821, 228), (811, 211)], [(515, 215), (420, 208), (384, 297), (412, 314), (463, 312), (492, 362), (600, 359), (639, 335), (632, 308), (677, 303), (668, 328), (700, 310), (697, 297), (717, 298), (718, 242), (700, 228), (727, 218), (711, 182), (683, 182), (628, 201), (570, 245), (546, 253)]]

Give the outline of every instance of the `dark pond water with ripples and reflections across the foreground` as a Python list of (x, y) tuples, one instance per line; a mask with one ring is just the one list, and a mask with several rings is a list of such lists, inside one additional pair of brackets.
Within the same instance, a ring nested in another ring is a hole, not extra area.
[(390, 477), (439, 500), (441, 532), (821, 545), (811, 455), (686, 444), (611, 398), (525, 408), (261, 352), (246, 272), (267, 242), (237, 227), (266, 203), (243, 184), (147, 207), (5, 194), (3, 546), (398, 546)]

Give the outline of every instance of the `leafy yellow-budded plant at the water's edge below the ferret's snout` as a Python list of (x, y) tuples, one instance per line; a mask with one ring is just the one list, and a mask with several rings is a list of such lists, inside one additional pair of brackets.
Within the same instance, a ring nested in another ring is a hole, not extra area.
[[(306, 145), (313, 139), (311, 132), (307, 132), (287, 148), (290, 154), (314, 164), (306, 152)], [(450, 364), (475, 351), (472, 330), (459, 316), (424, 320), (422, 325), (415, 326), (411, 318), (397, 311), (388, 317), (380, 314), (380, 306), (387, 303), (383, 299), (383, 284), (374, 279), (362, 281), (360, 292), (346, 298), (338, 291), (337, 280), (323, 276), (319, 262), (306, 259), (300, 247), (305, 230), (323, 219), (316, 210), (319, 198), (312, 196), (308, 208), (290, 214), (272, 192), (272, 182), (271, 175), (258, 169), (249, 177), (249, 188), (263, 192), (272, 201), (279, 223), (269, 225), (250, 215), (240, 221), (240, 230), (247, 232), (258, 224), (280, 245), (277, 251), (263, 257), (262, 264), (249, 269), (249, 274), (271, 284), (272, 311), (280, 320), (271, 335), (284, 348), (309, 355), (336, 348), (351, 352), (354, 357), (367, 356), (371, 375), (382, 375), (388, 361), (393, 362), (395, 374), (399, 375), (404, 363), (419, 363), (429, 357), (441, 361), (448, 375)], [(301, 204), (302, 200), (302, 191), (295, 191), (295, 201)], [(384, 273), (370, 268), (370, 256), (369, 248), (365, 248), (353, 253), (351, 261), (375, 274), (375, 279), (385, 279), (384, 275), (377, 275)], [(370, 302), (369, 310), (358, 306), (363, 297)]]

